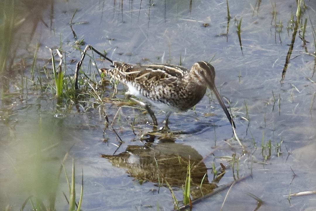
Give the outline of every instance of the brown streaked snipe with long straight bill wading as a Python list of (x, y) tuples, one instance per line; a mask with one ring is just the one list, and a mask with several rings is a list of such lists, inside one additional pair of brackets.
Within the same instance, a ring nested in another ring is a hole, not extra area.
[[(148, 103), (167, 112), (164, 123), (169, 129), (168, 119), (171, 113), (192, 108), (203, 98), (206, 89), (209, 88), (214, 92), (232, 127), (236, 128), (216, 89), (215, 69), (210, 63), (198, 61), (188, 70), (180, 65), (134, 65), (108, 60), (112, 62), (112, 68), (101, 68), (100, 71), (125, 84), (128, 87), (125, 93), (127, 98), (146, 109), (155, 126), (158, 122)], [(144, 102), (132, 96), (141, 98)]]

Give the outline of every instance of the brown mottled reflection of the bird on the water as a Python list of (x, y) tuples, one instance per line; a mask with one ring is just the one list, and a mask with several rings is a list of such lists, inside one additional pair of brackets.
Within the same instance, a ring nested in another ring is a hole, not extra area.
[[(161, 174), (169, 185), (182, 187), (185, 184), (187, 165), (190, 159), (191, 167), (191, 195), (199, 198), (202, 184), (203, 194), (211, 192), (217, 187), (215, 183), (209, 183), (207, 168), (202, 161), (202, 156), (191, 146), (178, 143), (161, 143), (146, 146), (128, 146), (125, 152), (118, 155), (101, 155), (107, 158), (112, 165), (127, 169), (127, 173), (138, 180), (161, 182)], [(158, 167), (156, 165), (158, 164)]]

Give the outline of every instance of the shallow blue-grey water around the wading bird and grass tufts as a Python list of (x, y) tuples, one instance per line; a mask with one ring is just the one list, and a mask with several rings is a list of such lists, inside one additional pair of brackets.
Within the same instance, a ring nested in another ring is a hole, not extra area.
[[(304, 19), (308, 18), (308, 13), (313, 22), (316, 4), (314, 1), (305, 3), (308, 9)], [(313, 195), (291, 197), (290, 203), (287, 195), (314, 190), (316, 185), (315, 60), (302, 53), (305, 49), (297, 34), (285, 78), (280, 83), (292, 38), (292, 30), (287, 26), (291, 12), (295, 15), (296, 3), (278, 0), (275, 4), (276, 23), (281, 21), (283, 24), (280, 33), (273, 25), (274, 3), (271, 6), (270, 2), (262, 1), (258, 8), (255, 0), (230, 0), (232, 19), (226, 36), (227, 10), (226, 2), (222, 1), (191, 1), (191, 6), (190, 1), (54, 1), (42, 5), (38, 15), (47, 27), (35, 18), (27, 19), (23, 24), (19, 33), (26, 35), (22, 38), (26, 47), (18, 48), (19, 59), (15, 63), (20, 64), (21, 58), (25, 58), (26, 64), (31, 63), (36, 43), (40, 42), (37, 59), (40, 69), (40, 65), (50, 58), (45, 46), (56, 48), (62, 44), (69, 62), (67, 73), (72, 75), (75, 63), (70, 60), (80, 59), (79, 51), (72, 48), (75, 39), (69, 27), (75, 9), (78, 10), (73, 22), (84, 22), (72, 26), (77, 39), (84, 39), (100, 51), (106, 50), (113, 60), (179, 64), (181, 59), (181, 65), (187, 68), (198, 60), (211, 60), (216, 69), (216, 87), (230, 101), (236, 132), (248, 153), (244, 155), (238, 143), (231, 140), (229, 122), (216, 98), (208, 91), (194, 111), (171, 115), (172, 130), (197, 128), (198, 132), (169, 137), (167, 140), (175, 142), (167, 147), (169, 155), (174, 157), (172, 152), (177, 152), (185, 159), (185, 152), (190, 152), (192, 157), (204, 158), (208, 182), (212, 180), (213, 162), (216, 167), (220, 163), (229, 166), (229, 159), (224, 156), (235, 153), (240, 158), (239, 177), (251, 172), (253, 175), (233, 185), (223, 210), (254, 210), (257, 201), (247, 193), (264, 201), (259, 210), (313, 210), (316, 208)], [(242, 52), (237, 35), (237, 22), (241, 17)], [(38, 25), (32, 35), (36, 20)], [(204, 27), (204, 23), (209, 26)], [(309, 18), (305, 36), (309, 41), (307, 51), (313, 53), (315, 47)], [(97, 62), (98, 67), (108, 65), (106, 61)], [(84, 68), (88, 68), (88, 61)], [(30, 69), (30, 65), (25, 66), (26, 76), (30, 75)], [(157, 206), (161, 210), (173, 209), (169, 189), (160, 187), (158, 194), (157, 181), (144, 176), (148, 173), (148, 165), (154, 165), (152, 160), (142, 163), (140, 160), (144, 158), (130, 153), (127, 162), (114, 164), (101, 157), (101, 154), (124, 153), (131, 146), (143, 146), (142, 134), (151, 130), (147, 123), (151, 121), (149, 115), (139, 109), (122, 107), (118, 112), (119, 119), (116, 118), (113, 124), (124, 141), (117, 149), (119, 138), (111, 127), (104, 129), (102, 110), (90, 108), (83, 112), (80, 108), (78, 113), (75, 106), (65, 102), (63, 106), (56, 106), (56, 99), (49, 94), (41, 96), (34, 88), (21, 90), (15, 86), (15, 83), (21, 83), (20, 71), (16, 72), (17, 76), (12, 74), (2, 82), (0, 100), (0, 169), (4, 172), (0, 176), (3, 187), (0, 204), (3, 207), (10, 204), (19, 209), (29, 195), (50, 189), (51, 184), (47, 181), (54, 180), (60, 159), (74, 145), (70, 156), (76, 163), (77, 194), (80, 169), (84, 172), (83, 210), (156, 210)], [(8, 90), (3, 88), (5, 84), (8, 84)], [(124, 99), (124, 91), (125, 88), (119, 85), (115, 96)], [(109, 93), (112, 94), (112, 90), (105, 92), (105, 96)], [(105, 103), (104, 110), (110, 123), (118, 109), (117, 103)], [(161, 123), (165, 114), (158, 109), (155, 111)], [(59, 118), (54, 117), (56, 114)], [(131, 127), (135, 117), (136, 135)], [(166, 138), (155, 138), (153, 152), (159, 153), (156, 149), (165, 147), (163, 140)], [(267, 160), (261, 153), (262, 140), (264, 144), (268, 140), (272, 142), (272, 153)], [(278, 157), (274, 145), (281, 140), (283, 154)], [(68, 167), (70, 163), (67, 162)], [(295, 172), (294, 179), (291, 168)], [(135, 169), (143, 177), (135, 176)], [(168, 181), (175, 180), (169, 177)], [(218, 185), (233, 179), (232, 169), (228, 168)], [(63, 210), (66, 202), (61, 191), (66, 192), (67, 186), (63, 176), (60, 181), (57, 208)], [(181, 200), (181, 187), (173, 188), (177, 199)], [(194, 205), (193, 209), (209, 210), (212, 207), (219, 210), (226, 193), (227, 190), (222, 191)]]

